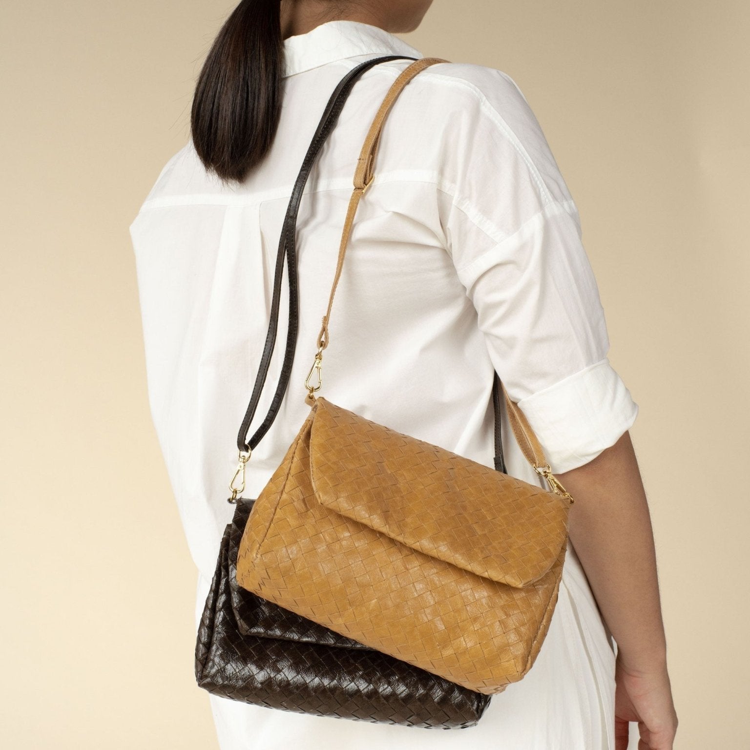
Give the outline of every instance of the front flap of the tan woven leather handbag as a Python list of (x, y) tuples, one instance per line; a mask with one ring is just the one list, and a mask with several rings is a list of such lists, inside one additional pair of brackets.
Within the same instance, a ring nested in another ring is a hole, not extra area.
[(528, 586), (559, 556), (568, 504), (556, 494), (322, 397), (314, 409), (311, 478), (326, 508), (508, 586)]

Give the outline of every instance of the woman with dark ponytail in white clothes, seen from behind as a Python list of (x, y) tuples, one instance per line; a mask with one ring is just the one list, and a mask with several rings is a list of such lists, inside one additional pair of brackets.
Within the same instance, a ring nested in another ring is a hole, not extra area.
[[(368, 58), (422, 57), (393, 33), (419, 26), (430, 5), (244, 0), (199, 77), (191, 141), (130, 227), (151, 411), (199, 569), (196, 621), (233, 512), (233, 441), (263, 350), (291, 185), (338, 81)], [(245, 496), (257, 496), (308, 413), (303, 383), (356, 157), (409, 62), (359, 80), (308, 182), (297, 223), (296, 362), (281, 413), (248, 463)], [(607, 360), (577, 208), (511, 78), (438, 64), (409, 84), (383, 131), (336, 304), (325, 393), (488, 466), (499, 373), (576, 499), (558, 603), (532, 669), (475, 727), (430, 732), (212, 695), (222, 750), (621, 750), (628, 721), (639, 722), (639, 748), (670, 750), (677, 722), (654, 548), (628, 433), (637, 406)], [(262, 414), (281, 353), (275, 361)], [(502, 427), (508, 473), (541, 483)]]

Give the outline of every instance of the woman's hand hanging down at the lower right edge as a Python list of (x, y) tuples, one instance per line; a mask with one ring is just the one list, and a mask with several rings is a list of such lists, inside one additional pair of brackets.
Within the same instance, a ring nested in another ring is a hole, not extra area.
[(635, 673), (615, 664), (614, 733), (616, 750), (627, 750), (628, 721), (638, 722), (638, 750), (672, 750), (677, 715), (667, 667)]

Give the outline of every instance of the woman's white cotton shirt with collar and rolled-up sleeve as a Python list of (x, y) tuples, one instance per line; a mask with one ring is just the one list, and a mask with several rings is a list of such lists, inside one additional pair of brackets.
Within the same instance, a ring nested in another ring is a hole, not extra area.
[[(380, 28), (351, 21), (290, 37), (284, 52), (284, 107), (263, 163), (243, 184), (224, 187), (188, 142), (163, 167), (130, 226), (151, 413), (202, 579), (197, 614), (233, 513), (226, 496), (236, 434), (266, 338), (281, 221), (302, 158), (347, 71), (374, 56), (423, 56)], [(304, 381), (335, 273), (356, 159), (380, 101), (409, 63), (377, 65), (356, 83), (305, 187), (297, 222), (296, 360), (281, 411), (248, 463), (245, 496), (257, 496), (269, 480), (310, 408)], [(553, 471), (580, 466), (613, 445), (633, 424), (637, 405), (607, 360), (604, 312), (576, 205), (514, 81), (463, 63), (422, 71), (389, 114), (375, 175), (359, 204), (338, 284), (320, 394), (491, 466), (496, 370)], [(286, 314), (284, 293), (277, 349), (251, 434), (278, 380)], [(502, 428), (508, 472), (541, 484), (505, 415)], [(585, 577), (577, 585), (586, 588)], [(590, 592), (586, 596), (592, 627), (601, 628)], [(559, 622), (562, 615), (556, 617)], [(544, 648), (554, 646), (545, 642)], [(583, 643), (580, 658), (586, 659)], [(532, 682), (529, 676), (512, 687), (525, 682)], [(572, 684), (565, 689), (580, 694)], [(506, 693), (493, 703), (509, 700)], [(601, 707), (601, 697), (596, 700)], [(569, 717), (570, 706), (564, 707)], [(293, 740), (284, 727), (306, 727), (305, 721), (312, 721), (310, 735), (298, 737), (305, 750), (329, 750), (341, 736), (322, 732), (331, 722), (316, 717), (290, 718), (244, 704), (230, 710), (255, 728), (247, 744), (226, 740), (226, 747), (288, 750)], [(259, 721), (266, 739), (254, 743)], [(382, 738), (383, 727), (344, 723), (357, 725), (347, 729), (354, 732), (347, 750), (383, 746), (358, 739)], [(414, 744), (418, 736), (430, 736), (431, 748), (435, 739), (449, 748), (472, 743), (473, 750), (541, 747), (498, 744), (497, 728), (487, 745), (476, 743), (475, 730), (436, 736), (387, 729), (393, 730), (397, 738), (410, 738), (410, 748), (421, 746)], [(576, 737), (564, 746), (589, 747), (576, 744)]]

